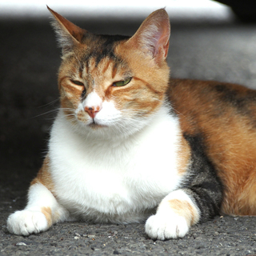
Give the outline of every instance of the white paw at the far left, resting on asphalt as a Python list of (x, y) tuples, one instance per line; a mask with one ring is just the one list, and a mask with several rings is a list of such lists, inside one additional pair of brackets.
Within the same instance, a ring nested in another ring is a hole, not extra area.
[(7, 229), (13, 234), (30, 235), (47, 230), (48, 224), (41, 211), (18, 210), (7, 219)]

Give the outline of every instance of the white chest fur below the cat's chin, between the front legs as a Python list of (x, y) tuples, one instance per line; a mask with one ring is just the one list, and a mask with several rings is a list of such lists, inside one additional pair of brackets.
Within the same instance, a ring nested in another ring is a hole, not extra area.
[(166, 112), (130, 138), (111, 141), (78, 134), (60, 112), (49, 150), (59, 202), (71, 214), (102, 222), (138, 222), (158, 206), (182, 182), (178, 118)]

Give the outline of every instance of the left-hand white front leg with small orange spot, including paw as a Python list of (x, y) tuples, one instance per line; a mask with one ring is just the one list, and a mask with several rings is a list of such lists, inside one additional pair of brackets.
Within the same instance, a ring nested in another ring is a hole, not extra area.
[(18, 210), (7, 219), (10, 233), (19, 235), (36, 234), (46, 231), (55, 222), (66, 220), (68, 212), (59, 205), (54, 195), (37, 182), (30, 186), (28, 204), (24, 210)]

